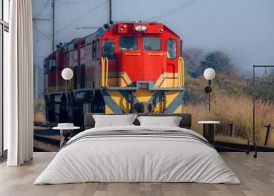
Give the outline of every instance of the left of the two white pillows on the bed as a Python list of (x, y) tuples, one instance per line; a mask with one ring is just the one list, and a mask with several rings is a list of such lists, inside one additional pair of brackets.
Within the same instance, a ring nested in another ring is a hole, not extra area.
[(92, 115), (95, 119), (95, 127), (116, 127), (134, 125), (133, 122), (136, 119), (136, 114), (127, 115)]

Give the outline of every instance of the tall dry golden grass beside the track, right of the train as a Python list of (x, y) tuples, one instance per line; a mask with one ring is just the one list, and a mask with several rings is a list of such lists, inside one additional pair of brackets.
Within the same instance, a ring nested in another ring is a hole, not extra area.
[[(243, 140), (252, 138), (252, 100), (249, 97), (229, 97), (227, 95), (214, 95), (212, 97), (212, 111), (208, 112), (207, 103), (184, 106), (184, 112), (192, 114), (192, 129), (201, 133), (202, 127), (197, 121), (221, 121), (216, 126), (216, 134), (229, 136), (229, 123), (235, 124), (236, 138), (229, 142), (242, 143)], [(256, 102), (256, 140), (264, 143), (265, 125), (274, 124), (274, 106), (262, 101)], [(274, 145), (274, 134), (271, 136), (269, 145)], [(223, 137), (228, 141), (227, 138)]]

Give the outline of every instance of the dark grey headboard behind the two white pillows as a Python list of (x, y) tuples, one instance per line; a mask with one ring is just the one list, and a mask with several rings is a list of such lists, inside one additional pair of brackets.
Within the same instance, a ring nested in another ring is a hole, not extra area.
[[(115, 115), (115, 114), (103, 114), (103, 113), (86, 113), (84, 117), (84, 126), (85, 130), (91, 129), (95, 127), (95, 119), (93, 119), (93, 114), (101, 114), (101, 115)], [(181, 114), (163, 114), (163, 113), (132, 113), (137, 114), (140, 116), (149, 116), (149, 117), (182, 117), (182, 120), (179, 123), (179, 127), (191, 129), (191, 114), (188, 113), (181, 113)], [(123, 115), (123, 114), (116, 114), (116, 115)], [(124, 114), (125, 115), (125, 114)], [(134, 125), (140, 125), (138, 119), (135, 119)]]

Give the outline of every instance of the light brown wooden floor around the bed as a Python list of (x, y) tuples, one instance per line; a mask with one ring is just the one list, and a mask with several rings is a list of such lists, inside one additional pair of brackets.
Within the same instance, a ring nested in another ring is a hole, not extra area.
[(198, 183), (85, 183), (36, 185), (34, 180), (55, 153), (34, 153), (34, 160), (22, 167), (0, 165), (0, 195), (274, 195), (274, 153), (221, 153), (242, 184)]

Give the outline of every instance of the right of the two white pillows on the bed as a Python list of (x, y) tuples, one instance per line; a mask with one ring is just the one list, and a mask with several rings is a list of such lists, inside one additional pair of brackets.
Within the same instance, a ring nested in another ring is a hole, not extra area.
[(155, 125), (155, 126), (169, 126), (179, 127), (182, 117), (137, 117), (141, 126)]

